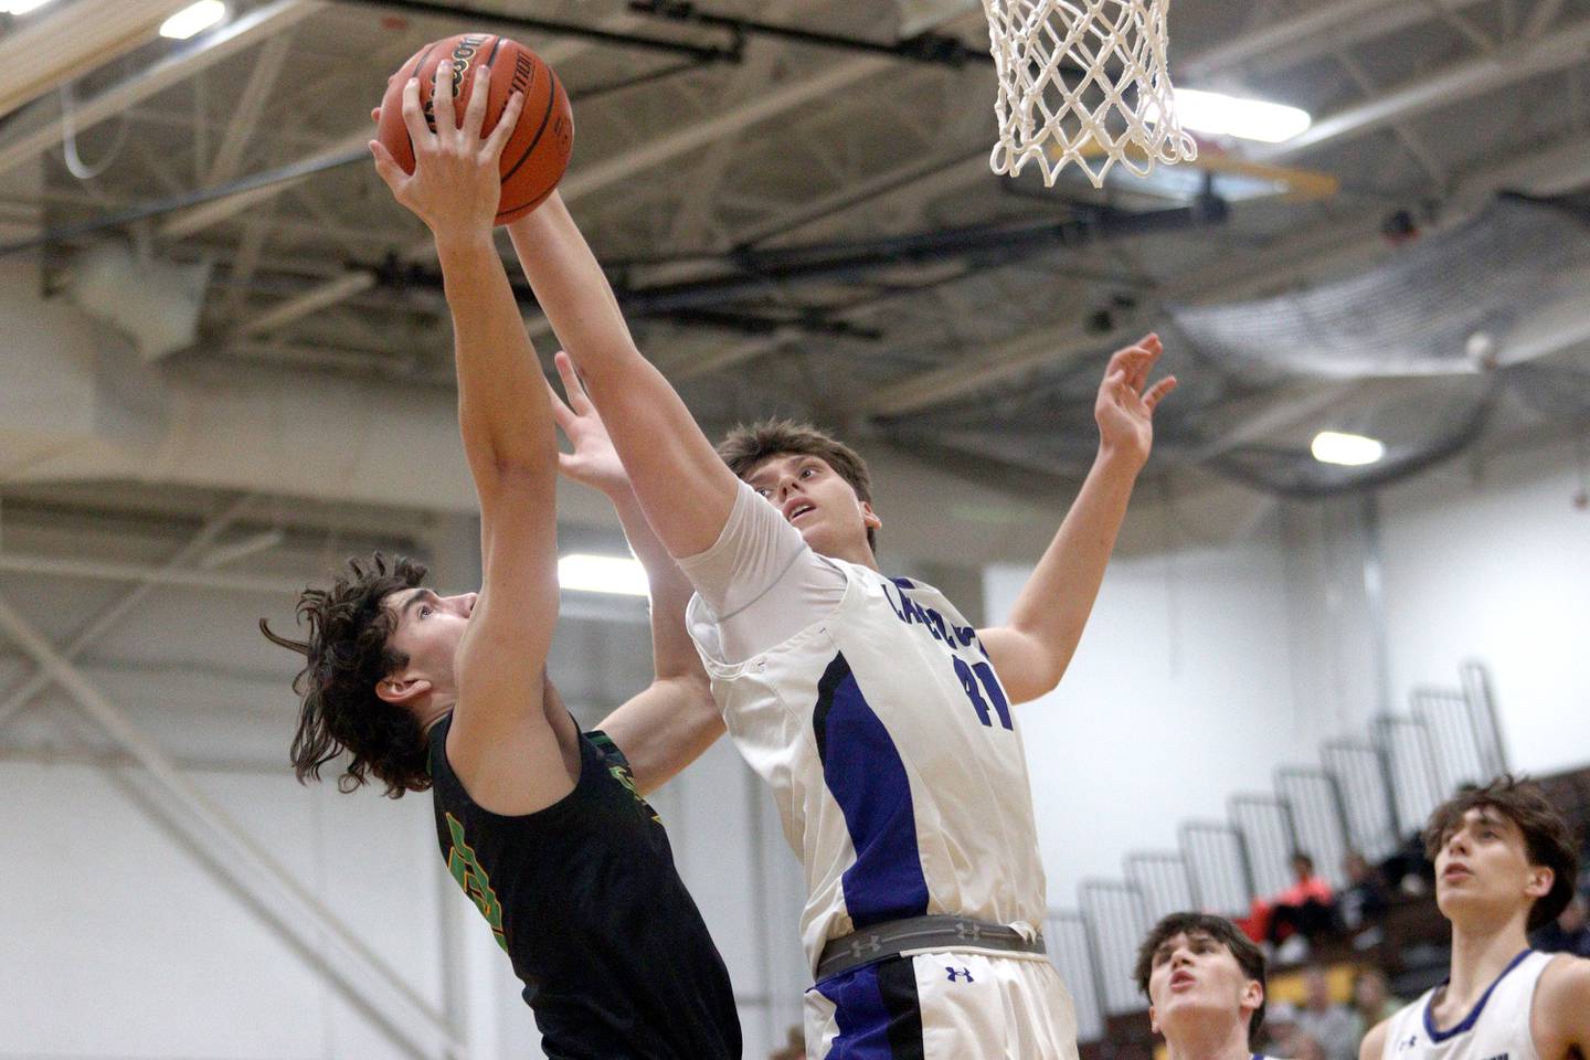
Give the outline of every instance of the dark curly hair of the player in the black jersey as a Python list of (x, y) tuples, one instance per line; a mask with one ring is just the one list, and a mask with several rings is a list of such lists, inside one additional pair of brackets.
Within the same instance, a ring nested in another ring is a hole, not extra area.
[(409, 663), (388, 645), (398, 620), (383, 601), (415, 588), (425, 575), (425, 564), (405, 556), (388, 561), (377, 551), (369, 559), (348, 559), (347, 572), (329, 590), (304, 590), (297, 620), (308, 621), (308, 639), (283, 637), (259, 620), (259, 631), (272, 644), (307, 660), (293, 679), (301, 699), (291, 750), (299, 783), (308, 777), (320, 780), (320, 768), (347, 752), (350, 761), (337, 777), (339, 791), (364, 785), (367, 774), (375, 774), (386, 785), (385, 795), (394, 799), (431, 787), (420, 723), (404, 707), (375, 694), (382, 679)]

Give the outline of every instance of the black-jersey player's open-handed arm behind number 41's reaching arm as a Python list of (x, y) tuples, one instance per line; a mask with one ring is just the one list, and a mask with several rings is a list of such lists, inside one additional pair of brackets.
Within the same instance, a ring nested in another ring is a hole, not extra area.
[(601, 489), (612, 501), (623, 534), (646, 567), (652, 591), (652, 683), (609, 714), (596, 728), (607, 733), (625, 758), (642, 795), (695, 761), (723, 734), (723, 717), (712, 702), (712, 688), (701, 658), (685, 633), (690, 582), (657, 540), (641, 512), (630, 477), (619, 462), (607, 429), (585, 394), (569, 354), (558, 353), (558, 375), (568, 394), (564, 404), (552, 394), (558, 427), (574, 447), (558, 455), (560, 470), (574, 482)]

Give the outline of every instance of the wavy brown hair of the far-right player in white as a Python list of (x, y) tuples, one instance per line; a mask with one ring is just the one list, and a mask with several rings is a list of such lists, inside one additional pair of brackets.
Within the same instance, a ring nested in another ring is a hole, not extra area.
[(1434, 861), (1442, 844), (1463, 825), (1464, 814), (1482, 807), (1518, 826), (1530, 865), (1552, 869), (1552, 890), (1530, 907), (1530, 930), (1550, 923), (1574, 896), (1579, 850), (1568, 822), (1534, 780), (1504, 772), (1485, 787), (1468, 788), (1437, 806), (1425, 825), (1425, 857)]

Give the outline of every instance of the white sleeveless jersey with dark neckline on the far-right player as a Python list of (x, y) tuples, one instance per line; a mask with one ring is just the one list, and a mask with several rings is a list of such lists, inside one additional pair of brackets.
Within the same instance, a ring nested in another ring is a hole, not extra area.
[(1437, 1028), (1434, 990), (1401, 1009), (1386, 1027), (1382, 1060), (1541, 1060), (1530, 1033), (1534, 985), (1555, 954), (1523, 950), (1458, 1023)]

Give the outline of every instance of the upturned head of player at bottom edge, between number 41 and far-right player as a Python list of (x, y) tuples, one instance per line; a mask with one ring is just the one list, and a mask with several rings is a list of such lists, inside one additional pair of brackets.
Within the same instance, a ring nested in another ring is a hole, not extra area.
[(1137, 988), (1167, 1060), (1264, 1060), (1264, 954), (1231, 920), (1172, 912), (1137, 947)]

